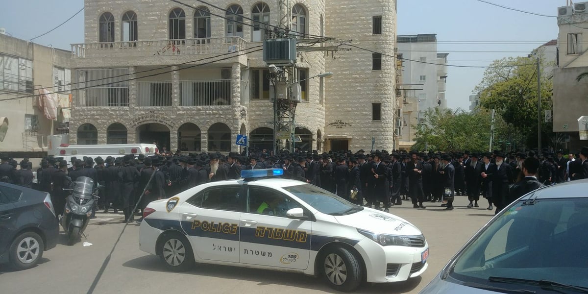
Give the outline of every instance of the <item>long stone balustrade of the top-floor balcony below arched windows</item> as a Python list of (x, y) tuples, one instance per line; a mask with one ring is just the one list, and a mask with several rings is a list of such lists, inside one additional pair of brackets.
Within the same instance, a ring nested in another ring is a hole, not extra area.
[(172, 56), (225, 54), (246, 49), (239, 36), (221, 38), (124, 41), (72, 44), (73, 58), (116, 58), (136, 56)]

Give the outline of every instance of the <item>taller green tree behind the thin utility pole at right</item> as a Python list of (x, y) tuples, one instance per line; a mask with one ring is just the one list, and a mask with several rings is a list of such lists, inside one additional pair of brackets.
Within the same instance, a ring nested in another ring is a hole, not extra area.
[[(509, 57), (496, 60), (487, 68), (475, 92), (480, 96), (480, 108), (496, 109), (511, 131), (523, 136), (524, 145), (537, 146), (537, 67), (535, 59)], [(541, 107), (552, 109), (551, 76), (544, 74), (542, 62)], [(542, 145), (551, 143), (552, 126), (542, 123)], [(505, 141), (504, 138), (500, 138)], [(512, 138), (513, 139), (513, 138)], [(523, 147), (523, 146), (521, 146)]]

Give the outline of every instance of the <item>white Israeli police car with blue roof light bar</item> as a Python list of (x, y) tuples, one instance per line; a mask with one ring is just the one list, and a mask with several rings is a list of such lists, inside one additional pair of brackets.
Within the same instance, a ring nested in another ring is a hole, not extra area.
[(343, 291), (425, 272), (429, 245), (414, 225), (282, 173), (246, 170), (149, 203), (141, 250), (173, 271), (198, 262), (300, 272)]

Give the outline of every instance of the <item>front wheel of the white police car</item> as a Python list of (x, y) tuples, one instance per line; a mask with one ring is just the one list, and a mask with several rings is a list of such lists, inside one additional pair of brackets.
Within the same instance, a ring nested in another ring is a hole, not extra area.
[(345, 248), (333, 248), (323, 258), (323, 275), (333, 289), (350, 292), (358, 288), (362, 269), (353, 253)]

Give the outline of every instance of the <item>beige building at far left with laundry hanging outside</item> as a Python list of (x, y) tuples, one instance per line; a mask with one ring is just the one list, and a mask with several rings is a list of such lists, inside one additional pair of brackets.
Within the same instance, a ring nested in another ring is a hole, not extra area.
[[(0, 116), (6, 118), (0, 124), (8, 122), (0, 152), (11, 158), (41, 158), (49, 148), (48, 136), (66, 130), (70, 55), (68, 51), (0, 34)], [(55, 119), (45, 117), (38, 96), (33, 96), (40, 88), (62, 91), (53, 96)]]

